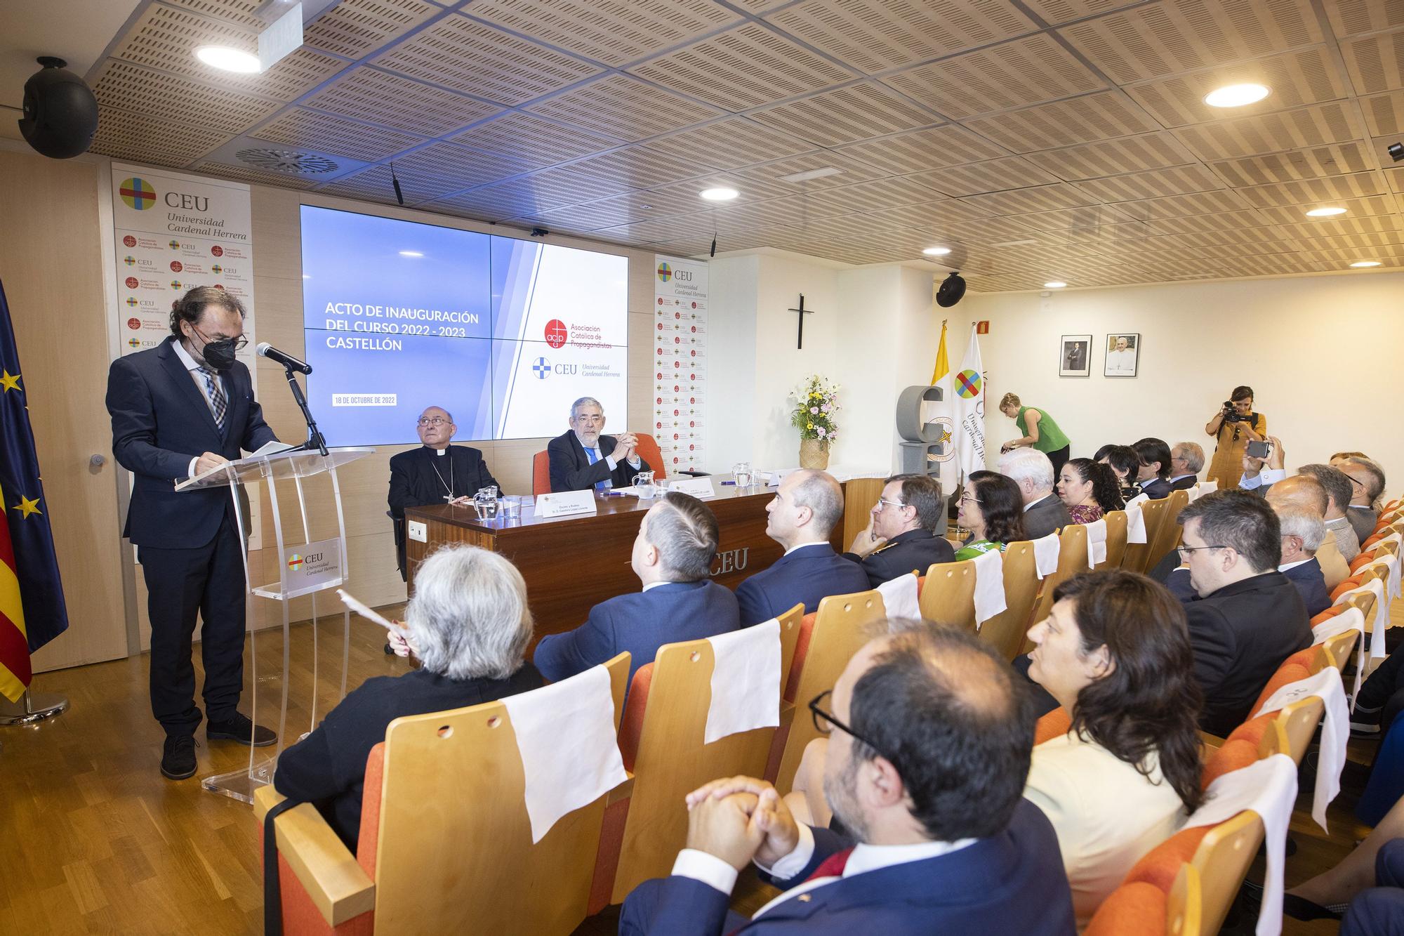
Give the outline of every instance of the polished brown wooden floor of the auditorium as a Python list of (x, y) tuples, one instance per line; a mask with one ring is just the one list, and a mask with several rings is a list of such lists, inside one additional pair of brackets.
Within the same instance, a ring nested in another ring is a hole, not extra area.
[[(399, 609), (390, 609), (399, 611)], [(396, 675), (409, 663), (382, 652), (382, 631), (354, 623), (350, 686)], [(312, 625), (292, 628), (293, 703), (286, 735), (307, 729)], [(324, 620), (319, 713), (340, 687), (341, 618)], [(282, 662), (281, 634), (257, 637), (260, 713), (281, 686), (270, 676)], [(197, 670), (199, 661), (197, 659)], [(334, 665), (333, 665), (334, 663)], [(246, 700), (250, 680), (246, 656)], [(63, 693), (72, 708), (32, 728), (0, 728), (0, 932), (4, 933), (258, 933), (261, 871), (251, 808), (201, 788), (199, 779), (249, 765), (249, 749), (197, 738), (199, 772), (190, 780), (160, 776), (161, 729), (150, 715), (147, 656), (42, 673), (35, 690)], [(298, 701), (298, 696), (307, 698)], [(247, 704), (244, 706), (247, 711)], [(320, 718), (320, 714), (319, 714)], [(270, 724), (268, 718), (260, 721)], [(1351, 742), (1342, 793), (1330, 810), (1331, 833), (1311, 821), (1311, 790), (1302, 790), (1287, 859), (1287, 884), (1338, 862), (1366, 832), (1352, 815), (1373, 742)], [(271, 750), (271, 749), (265, 749)], [(1262, 876), (1259, 857), (1252, 873)], [(762, 897), (746, 901), (764, 902)], [(581, 935), (615, 932), (601, 915)], [(1287, 936), (1334, 933), (1334, 922), (1287, 919)], [(1226, 932), (1252, 932), (1252, 921)]]

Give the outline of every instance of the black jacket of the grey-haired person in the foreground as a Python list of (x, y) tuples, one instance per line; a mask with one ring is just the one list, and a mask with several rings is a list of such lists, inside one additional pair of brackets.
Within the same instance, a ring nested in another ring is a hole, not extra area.
[(385, 741), (392, 721), (497, 701), (539, 686), (541, 673), (531, 663), (507, 679), (455, 680), (427, 669), (373, 676), (347, 693), (310, 735), (282, 752), (272, 786), (289, 800), (316, 804), (355, 852), (365, 759), (371, 748)]

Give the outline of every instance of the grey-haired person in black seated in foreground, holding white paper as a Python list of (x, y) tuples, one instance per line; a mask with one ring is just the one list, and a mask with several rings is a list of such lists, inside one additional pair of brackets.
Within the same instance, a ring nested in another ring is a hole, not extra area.
[(517, 566), (477, 547), (435, 550), (414, 575), (404, 635), (392, 641), (414, 654), (420, 669), (375, 676), (347, 693), (310, 735), (282, 752), (274, 788), (316, 804), (354, 852), (365, 759), (390, 722), (538, 689), (541, 673), (522, 662), (531, 634), (526, 583)]

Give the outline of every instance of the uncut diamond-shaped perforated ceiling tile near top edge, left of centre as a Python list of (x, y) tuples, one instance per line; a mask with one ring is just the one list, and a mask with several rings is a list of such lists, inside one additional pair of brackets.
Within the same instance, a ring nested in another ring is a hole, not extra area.
[(600, 69), (466, 17), (414, 34), (375, 65), (504, 104), (521, 104)]

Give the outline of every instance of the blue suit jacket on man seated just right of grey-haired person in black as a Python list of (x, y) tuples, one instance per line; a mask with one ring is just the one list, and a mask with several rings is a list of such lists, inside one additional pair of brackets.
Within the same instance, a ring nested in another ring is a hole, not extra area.
[(716, 637), (740, 627), (736, 596), (716, 582), (668, 582), (590, 609), (584, 624), (536, 644), (536, 669), (553, 683), (629, 651), (629, 679), (664, 644)]

